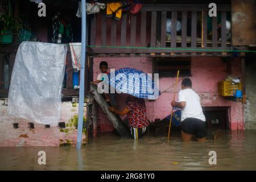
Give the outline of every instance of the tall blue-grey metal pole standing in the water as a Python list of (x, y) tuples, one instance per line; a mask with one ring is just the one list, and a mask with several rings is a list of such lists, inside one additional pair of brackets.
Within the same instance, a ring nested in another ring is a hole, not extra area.
[(85, 69), (85, 54), (86, 54), (86, 0), (82, 0), (82, 54), (80, 68), (80, 89), (79, 89), (79, 121), (77, 127), (77, 144), (76, 148), (81, 148), (82, 140), (82, 123), (84, 118), (84, 69)]

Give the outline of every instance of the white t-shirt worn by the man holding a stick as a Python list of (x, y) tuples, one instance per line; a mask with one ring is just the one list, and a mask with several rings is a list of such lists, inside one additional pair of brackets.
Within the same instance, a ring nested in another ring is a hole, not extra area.
[(192, 89), (184, 89), (179, 92), (179, 102), (186, 102), (181, 110), (181, 121), (186, 118), (197, 118), (205, 121), (203, 109), (200, 104), (200, 97)]

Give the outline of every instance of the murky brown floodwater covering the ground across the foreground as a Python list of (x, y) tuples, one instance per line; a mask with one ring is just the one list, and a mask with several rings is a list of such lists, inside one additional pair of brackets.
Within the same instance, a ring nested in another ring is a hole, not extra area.
[[(46, 151), (46, 165), (38, 151)], [(210, 165), (209, 151), (217, 164)], [(180, 137), (122, 139), (101, 134), (81, 150), (75, 147), (0, 148), (1, 170), (255, 170), (256, 131), (222, 131), (216, 142), (183, 143)]]

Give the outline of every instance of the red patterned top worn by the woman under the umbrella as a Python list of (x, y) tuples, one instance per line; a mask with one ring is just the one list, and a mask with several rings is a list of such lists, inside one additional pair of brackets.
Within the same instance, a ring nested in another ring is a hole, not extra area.
[(127, 102), (128, 126), (135, 128), (143, 128), (149, 125), (148, 118), (146, 116), (146, 107), (139, 103), (138, 100), (130, 100)]

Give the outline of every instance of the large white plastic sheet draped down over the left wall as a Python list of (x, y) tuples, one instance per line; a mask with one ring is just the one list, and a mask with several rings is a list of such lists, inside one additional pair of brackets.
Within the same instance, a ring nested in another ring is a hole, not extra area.
[(7, 111), (30, 122), (57, 126), (67, 46), (22, 42), (11, 74)]

